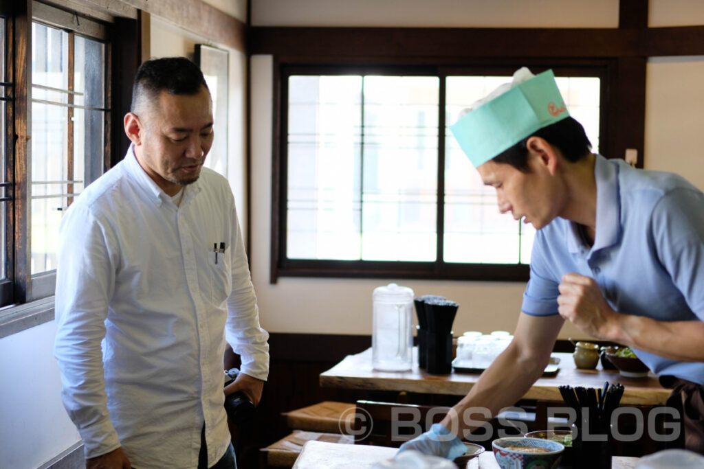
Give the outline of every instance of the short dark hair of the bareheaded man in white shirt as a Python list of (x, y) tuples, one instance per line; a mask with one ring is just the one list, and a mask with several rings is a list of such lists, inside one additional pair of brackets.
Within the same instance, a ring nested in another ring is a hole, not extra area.
[[(185, 57), (151, 58), (139, 65), (132, 85), (132, 105), (134, 113), (142, 101), (151, 101), (161, 91), (168, 94), (198, 94), (206, 79), (195, 63)], [(208, 90), (208, 93), (210, 90)]]

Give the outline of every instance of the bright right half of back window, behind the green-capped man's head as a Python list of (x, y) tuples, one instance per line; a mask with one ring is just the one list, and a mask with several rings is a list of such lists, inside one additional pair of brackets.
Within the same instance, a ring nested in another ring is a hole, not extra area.
[[(448, 77), (446, 123), (454, 124), (460, 112), (510, 82), (510, 77)], [(555, 79), (570, 115), (584, 125), (594, 151), (599, 142), (600, 79)], [(445, 262), (529, 264), (535, 237), (532, 225), (499, 214), (496, 193), (484, 186), (449, 128), (445, 129)]]

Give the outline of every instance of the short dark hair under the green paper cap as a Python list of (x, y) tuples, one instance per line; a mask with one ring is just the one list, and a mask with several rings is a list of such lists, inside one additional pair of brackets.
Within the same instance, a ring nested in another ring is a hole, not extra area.
[(582, 124), (572, 117), (550, 124), (539, 129), (508, 150), (499, 153), (491, 161), (511, 165), (520, 172), (528, 172), (528, 148), (526, 142), (532, 136), (541, 137), (560, 150), (566, 160), (575, 162), (581, 160), (591, 151), (591, 143), (584, 132)]

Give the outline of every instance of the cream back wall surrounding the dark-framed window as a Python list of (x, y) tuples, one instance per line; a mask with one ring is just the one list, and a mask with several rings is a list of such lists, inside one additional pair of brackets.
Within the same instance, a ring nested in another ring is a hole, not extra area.
[[(704, 24), (698, 0), (651, 0), (654, 25)], [(415, 26), (415, 27), (616, 27), (617, 1), (454, 1), (258, 0), (254, 25)], [(665, 8), (667, 4), (667, 8)], [(696, 4), (696, 5), (695, 5)], [(507, 13), (508, 6), (514, 8)], [(588, 8), (587, 8), (588, 6)], [(695, 7), (696, 8), (693, 8)], [(520, 14), (518, 14), (518, 13)], [(520, 18), (519, 18), (520, 17)], [(556, 18), (559, 18), (556, 19)], [(695, 22), (695, 23), (692, 23)], [(251, 268), (260, 314), (271, 332), (370, 334), (372, 290), (380, 279), (279, 278), (269, 283), (271, 211), (272, 58), (255, 56), (252, 74), (252, 243)], [(646, 167), (686, 174), (704, 188), (704, 165), (696, 126), (703, 122), (704, 60), (650, 60), (646, 105)], [(689, 105), (687, 105), (689, 103)], [(608, 156), (608, 155), (607, 155)], [(416, 295), (444, 295), (460, 304), (455, 333), (463, 330), (513, 330), (524, 284), (467, 281), (405, 281)], [(583, 338), (566, 325), (560, 338)]]

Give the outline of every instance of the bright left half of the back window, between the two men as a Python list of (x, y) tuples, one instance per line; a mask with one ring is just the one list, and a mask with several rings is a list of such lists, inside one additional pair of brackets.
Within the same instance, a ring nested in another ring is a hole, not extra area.
[(438, 83), (289, 78), (289, 259), (435, 259)]

